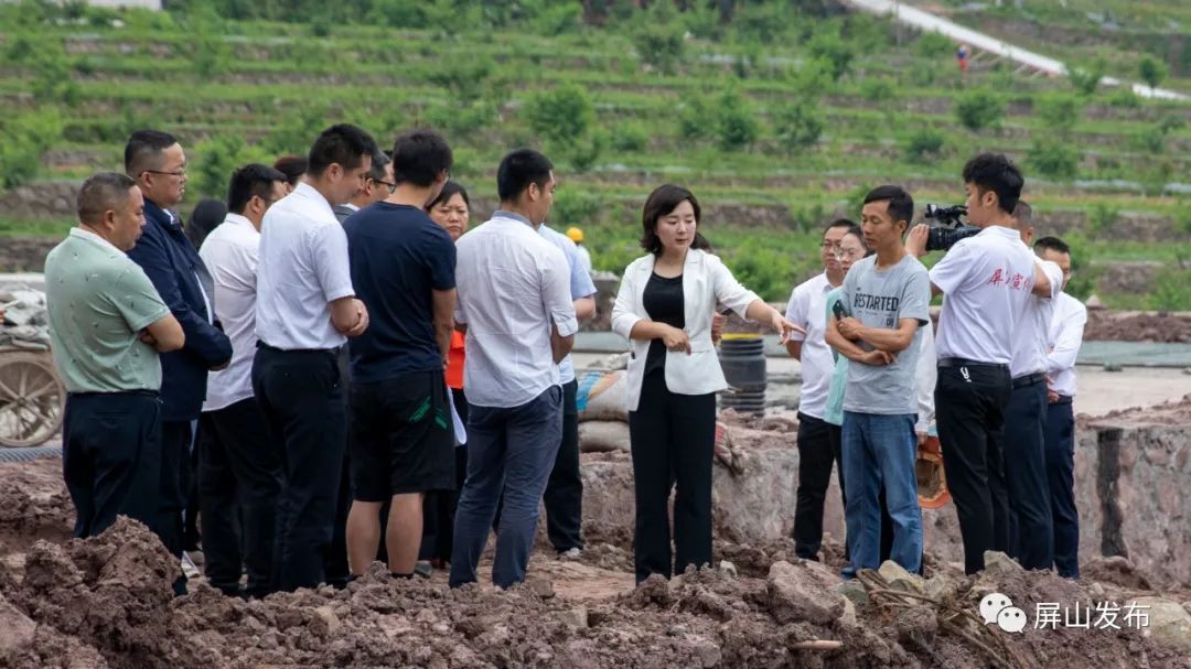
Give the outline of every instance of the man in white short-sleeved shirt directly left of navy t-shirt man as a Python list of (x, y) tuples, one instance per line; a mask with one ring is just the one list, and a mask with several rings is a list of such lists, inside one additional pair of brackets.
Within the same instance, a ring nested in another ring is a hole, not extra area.
[(356, 126), (325, 130), (301, 183), (261, 225), (252, 390), (285, 454), (274, 548), (281, 590), (325, 579), (347, 448), (336, 358), (347, 337), (368, 327), (351, 286), (348, 238), (331, 207), (360, 189), (375, 151)]

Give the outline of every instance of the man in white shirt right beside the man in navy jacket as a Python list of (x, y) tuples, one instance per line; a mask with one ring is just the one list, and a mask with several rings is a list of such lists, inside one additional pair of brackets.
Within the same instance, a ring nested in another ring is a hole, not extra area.
[[(231, 175), (227, 217), (199, 249), (214, 282), (216, 318), (231, 338), (231, 364), (212, 371), (199, 418), (199, 504), (207, 581), (231, 596), (269, 594), (281, 451), (252, 395), (256, 265), (264, 212), (286, 194), (286, 175), (248, 164)], [(248, 568), (248, 587), (239, 581)]]

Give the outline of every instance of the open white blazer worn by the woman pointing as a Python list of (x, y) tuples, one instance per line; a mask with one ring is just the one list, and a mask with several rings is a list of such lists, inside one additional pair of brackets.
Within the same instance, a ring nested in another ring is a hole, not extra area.
[[(621, 290), (612, 307), (612, 331), (629, 339), (629, 411), (637, 411), (641, 401), (641, 382), (644, 380), (646, 357), (649, 355), (651, 339), (630, 339), (629, 332), (640, 320), (649, 319), (642, 296), (646, 283), (654, 273), (653, 254), (642, 256), (624, 269)], [(682, 299), (686, 302), (684, 331), (691, 340), (691, 355), (666, 354), (666, 387), (680, 395), (703, 395), (718, 393), (728, 388), (724, 373), (719, 368), (716, 346), (711, 343), (711, 317), (716, 302), (731, 308), (746, 318), (744, 312), (753, 301), (759, 300), (756, 293), (744, 288), (736, 281), (724, 263), (704, 251), (691, 249), (682, 265)]]

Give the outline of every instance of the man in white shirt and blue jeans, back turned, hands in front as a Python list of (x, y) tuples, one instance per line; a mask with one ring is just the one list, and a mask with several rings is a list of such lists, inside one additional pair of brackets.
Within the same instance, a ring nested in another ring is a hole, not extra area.
[(538, 504), (562, 439), (559, 362), (579, 330), (567, 260), (537, 233), (554, 200), (542, 154), (500, 161), (500, 208), (459, 239), (455, 321), (467, 333), (467, 482), (455, 512), (450, 586), (476, 581), (497, 502), (492, 582), (525, 580)]

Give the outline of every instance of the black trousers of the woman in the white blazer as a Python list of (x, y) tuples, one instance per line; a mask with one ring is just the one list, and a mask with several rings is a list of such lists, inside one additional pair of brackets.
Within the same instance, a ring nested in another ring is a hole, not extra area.
[[(650, 574), (669, 579), (688, 565), (710, 564), (716, 395), (671, 393), (662, 369), (646, 375), (637, 411), (629, 412), (629, 439), (636, 500), (632, 548), (637, 582)], [(672, 568), (668, 502), (675, 486)]]

